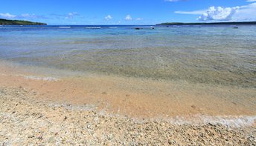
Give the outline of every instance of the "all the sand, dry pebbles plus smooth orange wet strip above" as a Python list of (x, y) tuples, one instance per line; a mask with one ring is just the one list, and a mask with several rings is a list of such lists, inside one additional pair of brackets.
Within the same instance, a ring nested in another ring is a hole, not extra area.
[(0, 145), (256, 144), (252, 88), (0, 69)]

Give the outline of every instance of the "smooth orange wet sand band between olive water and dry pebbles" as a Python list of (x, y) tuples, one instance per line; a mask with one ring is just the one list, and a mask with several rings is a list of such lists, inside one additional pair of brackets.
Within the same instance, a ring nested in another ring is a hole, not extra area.
[(95, 74), (54, 78), (32, 70), (1, 63), (0, 86), (25, 87), (52, 101), (93, 104), (99, 111), (138, 119), (256, 115), (254, 88)]

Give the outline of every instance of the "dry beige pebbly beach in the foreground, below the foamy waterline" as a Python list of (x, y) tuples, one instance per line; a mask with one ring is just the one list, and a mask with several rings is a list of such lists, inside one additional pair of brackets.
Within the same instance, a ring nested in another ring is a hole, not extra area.
[(138, 122), (68, 104), (49, 104), (22, 87), (0, 87), (1, 145), (253, 145), (255, 126)]

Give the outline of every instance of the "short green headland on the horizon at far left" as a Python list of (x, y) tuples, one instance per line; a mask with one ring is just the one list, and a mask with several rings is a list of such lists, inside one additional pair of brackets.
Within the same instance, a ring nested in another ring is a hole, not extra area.
[(0, 25), (47, 25), (46, 23), (25, 21), (25, 20), (7, 20), (0, 19)]

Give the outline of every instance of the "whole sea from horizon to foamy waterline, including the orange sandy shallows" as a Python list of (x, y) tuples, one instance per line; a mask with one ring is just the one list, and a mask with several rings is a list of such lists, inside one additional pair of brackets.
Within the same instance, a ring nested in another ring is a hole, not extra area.
[(132, 118), (252, 124), (256, 26), (0, 26), (0, 86)]

